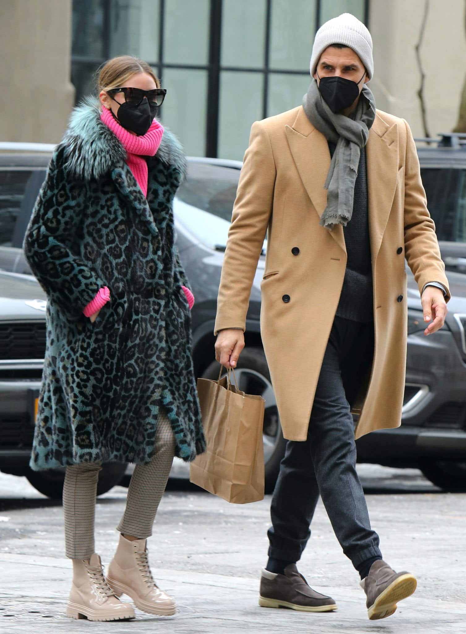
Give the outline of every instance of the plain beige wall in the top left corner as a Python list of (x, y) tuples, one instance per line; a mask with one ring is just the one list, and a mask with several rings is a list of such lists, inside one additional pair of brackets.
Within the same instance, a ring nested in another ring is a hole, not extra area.
[(60, 141), (74, 101), (72, 0), (0, 4), (0, 141)]

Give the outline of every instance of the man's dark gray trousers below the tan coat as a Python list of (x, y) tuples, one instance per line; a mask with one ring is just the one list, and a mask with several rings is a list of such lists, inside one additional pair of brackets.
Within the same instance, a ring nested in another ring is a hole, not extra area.
[(268, 556), (297, 562), (310, 538), (319, 494), (344, 554), (357, 568), (382, 557), (356, 472), (350, 407), (374, 356), (374, 323), (335, 317), (312, 407), (308, 438), (288, 441), (275, 485)]

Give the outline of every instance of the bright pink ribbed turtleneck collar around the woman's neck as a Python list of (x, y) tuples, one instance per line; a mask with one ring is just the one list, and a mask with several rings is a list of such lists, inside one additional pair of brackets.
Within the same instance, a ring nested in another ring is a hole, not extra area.
[(144, 196), (147, 196), (148, 164), (142, 157), (153, 157), (157, 152), (162, 140), (163, 126), (154, 119), (146, 134), (137, 136), (137, 134), (132, 134), (121, 126), (113, 117), (111, 110), (105, 106), (102, 107), (100, 118), (106, 126), (110, 127), (118, 141), (122, 143), (123, 148), (127, 152), (126, 162), (128, 167), (133, 172), (134, 178), (139, 187), (141, 187)]

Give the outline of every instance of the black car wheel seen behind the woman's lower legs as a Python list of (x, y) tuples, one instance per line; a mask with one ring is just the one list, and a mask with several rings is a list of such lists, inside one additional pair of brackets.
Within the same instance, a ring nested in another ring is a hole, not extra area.
[[(106, 462), (99, 471), (97, 484), (97, 495), (103, 495), (110, 491), (116, 484), (120, 484), (125, 475), (126, 462)], [(63, 497), (63, 482), (65, 481), (65, 467), (59, 469), (46, 469), (44, 471), (33, 471), (28, 467), (28, 472), (24, 474), (30, 484), (37, 491), (43, 493), (53, 500), (61, 500)]]

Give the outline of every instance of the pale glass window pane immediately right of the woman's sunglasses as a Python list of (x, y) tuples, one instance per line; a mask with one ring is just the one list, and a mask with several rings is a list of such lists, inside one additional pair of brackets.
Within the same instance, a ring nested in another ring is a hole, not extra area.
[(206, 70), (165, 68), (161, 77), (167, 88), (161, 117), (180, 139), (184, 151), (191, 156), (206, 152)]

